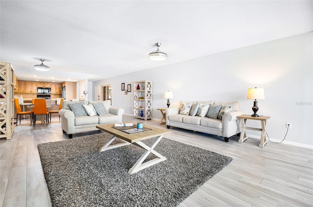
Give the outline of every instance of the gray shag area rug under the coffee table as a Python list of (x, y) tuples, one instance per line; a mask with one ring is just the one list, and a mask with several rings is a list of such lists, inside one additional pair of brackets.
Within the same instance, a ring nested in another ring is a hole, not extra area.
[(174, 207), (232, 161), (163, 138), (155, 150), (167, 160), (130, 175), (144, 150), (127, 145), (98, 152), (111, 137), (101, 133), (38, 145), (53, 207)]

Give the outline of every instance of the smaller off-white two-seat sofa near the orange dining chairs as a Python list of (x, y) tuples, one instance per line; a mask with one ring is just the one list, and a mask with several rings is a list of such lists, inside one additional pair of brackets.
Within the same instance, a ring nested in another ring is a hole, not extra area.
[(72, 138), (74, 133), (99, 130), (96, 128), (98, 124), (112, 124), (122, 122), (122, 116), (124, 109), (111, 106), (110, 100), (101, 102), (109, 112), (105, 115), (89, 116), (75, 116), (71, 110), (69, 104), (95, 104), (92, 101), (73, 102), (64, 101), (62, 103), (62, 109), (59, 111), (61, 116), (61, 125), (63, 133), (68, 134), (68, 138)]

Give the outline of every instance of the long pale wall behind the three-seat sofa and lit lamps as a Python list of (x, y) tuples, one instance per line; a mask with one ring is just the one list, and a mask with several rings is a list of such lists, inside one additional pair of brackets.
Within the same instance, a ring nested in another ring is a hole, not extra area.
[[(173, 55), (168, 54), (168, 58)], [(112, 105), (132, 114), (132, 94), (124, 95), (121, 83), (126, 86), (142, 80), (153, 81), (153, 117), (158, 119), (161, 115), (156, 108), (166, 107), (163, 94), (167, 90), (174, 93), (171, 106), (178, 106), (180, 100), (239, 101), (241, 110), (252, 114), (253, 100), (246, 99), (247, 88), (263, 87), (265, 100), (258, 100), (258, 114), (271, 117), (267, 123), (269, 137), (282, 140), (288, 122), (292, 129), (284, 143), (313, 145), (312, 32), (134, 72), (93, 85), (111, 83)], [(253, 121), (247, 124), (260, 127)]]

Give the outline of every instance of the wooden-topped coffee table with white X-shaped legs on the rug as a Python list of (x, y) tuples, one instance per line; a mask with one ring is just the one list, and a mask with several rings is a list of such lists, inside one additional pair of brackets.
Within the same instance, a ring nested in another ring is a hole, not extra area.
[[(135, 172), (138, 172), (139, 170), (142, 170), (144, 168), (147, 168), (149, 166), (153, 166), (156, 163), (162, 162), (166, 160), (166, 157), (162, 156), (158, 152), (154, 150), (156, 145), (159, 143), (159, 141), (162, 139), (164, 134), (171, 133), (169, 130), (166, 129), (160, 129), (153, 126), (147, 126), (144, 125), (144, 127), (149, 128), (151, 130), (137, 132), (133, 134), (127, 134), (123, 131), (120, 131), (118, 129), (113, 128), (114, 124), (104, 124), (104, 125), (97, 125), (96, 127), (102, 131), (108, 132), (109, 134), (112, 134), (113, 137), (110, 139), (106, 144), (104, 144), (101, 149), (99, 149), (100, 152), (113, 149), (116, 147), (121, 147), (125, 145), (136, 145), (143, 149), (145, 149), (145, 152), (141, 155), (141, 157), (137, 160), (137, 162), (134, 164), (132, 168), (129, 169), (128, 173), (133, 174)], [(134, 125), (134, 128), (136, 126)], [(124, 141), (124, 143), (111, 145), (111, 143), (116, 139), (120, 138)], [(155, 138), (155, 140), (152, 142), (150, 146), (145, 145), (141, 141), (147, 140), (150, 138)], [(148, 155), (152, 153), (156, 155), (156, 158), (153, 160), (150, 160), (148, 162), (143, 163), (143, 161), (148, 157)]]

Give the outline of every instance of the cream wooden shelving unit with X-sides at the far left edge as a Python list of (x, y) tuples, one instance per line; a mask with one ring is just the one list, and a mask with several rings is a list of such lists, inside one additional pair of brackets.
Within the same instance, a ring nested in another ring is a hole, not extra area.
[(14, 131), (14, 70), (0, 62), (0, 138), (10, 140)]

